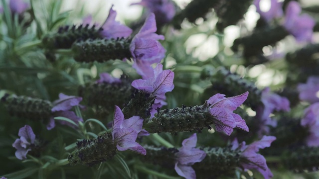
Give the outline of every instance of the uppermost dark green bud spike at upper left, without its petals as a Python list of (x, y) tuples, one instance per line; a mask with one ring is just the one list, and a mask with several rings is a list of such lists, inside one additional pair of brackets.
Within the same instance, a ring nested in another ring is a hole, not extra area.
[(48, 49), (69, 49), (77, 40), (103, 38), (100, 34), (102, 28), (96, 29), (95, 25), (89, 24), (71, 28), (67, 25), (60, 27), (57, 33), (47, 34), (42, 39), (42, 44)]

